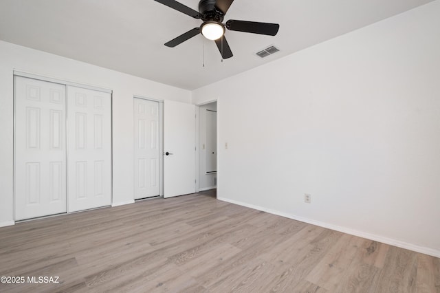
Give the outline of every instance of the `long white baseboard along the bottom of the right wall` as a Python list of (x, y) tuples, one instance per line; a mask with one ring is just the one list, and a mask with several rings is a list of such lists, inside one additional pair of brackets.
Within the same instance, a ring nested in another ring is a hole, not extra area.
[(299, 217), (299, 216), (292, 215), (292, 214), (289, 214), (289, 213), (283, 213), (283, 212), (280, 212), (278, 210), (272, 210), (270, 208), (263, 208), (262, 206), (254, 206), (253, 204), (247, 204), (245, 202), (239, 202), (239, 201), (236, 201), (234, 199), (228, 199), (228, 198), (225, 198), (225, 197), (217, 197), (217, 199), (219, 199), (219, 200), (221, 200), (223, 202), (230, 202), (231, 204), (238, 204), (239, 206), (245, 206), (247, 208), (253, 208), (254, 210), (261, 210), (263, 212), (270, 213), (270, 214), (273, 214), (273, 215), (278, 215), (278, 216), (281, 216), (281, 217), (286, 217), (286, 218), (294, 219), (294, 220), (297, 220), (297, 221), (303, 221), (303, 222), (305, 222), (307, 224), (312, 224), (312, 225), (320, 226), (320, 227), (323, 227), (323, 228), (328, 228), (328, 229), (331, 229), (331, 230), (336, 230), (336, 231), (347, 233), (347, 234), (350, 234), (350, 235), (354, 235), (354, 236), (370, 239), (370, 240), (373, 240), (373, 241), (378, 241), (378, 242), (386, 243), (386, 244), (389, 244), (391, 246), (397, 246), (399, 248), (405, 248), (405, 249), (412, 250), (412, 251), (415, 251), (415, 252), (420, 252), (420, 253), (423, 253), (423, 254), (428, 254), (428, 255), (431, 255), (432, 257), (439, 257), (440, 258), (440, 250), (436, 250), (436, 249), (433, 249), (433, 248), (427, 248), (427, 247), (424, 247), (424, 246), (418, 246), (418, 245), (415, 245), (415, 244), (412, 244), (412, 243), (408, 243), (408, 242), (404, 242), (404, 241), (400, 241), (400, 240), (396, 240), (396, 239), (391, 239), (391, 238), (383, 237), (383, 236), (380, 236), (380, 235), (374, 235), (374, 234), (370, 234), (370, 233), (367, 233), (367, 232), (362, 232), (362, 231), (359, 231), (359, 230), (353, 230), (353, 229), (350, 229), (350, 228), (346, 228), (346, 227), (342, 227), (342, 226), (337, 226), (337, 225), (325, 223), (325, 222), (322, 222), (322, 221), (315, 221), (313, 219), (307, 219), (305, 217)]

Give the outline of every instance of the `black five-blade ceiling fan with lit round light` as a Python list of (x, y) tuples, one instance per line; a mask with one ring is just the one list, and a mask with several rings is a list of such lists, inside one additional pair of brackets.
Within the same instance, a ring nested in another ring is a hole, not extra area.
[(200, 0), (199, 12), (174, 0), (155, 0), (179, 12), (201, 19), (203, 23), (199, 28), (193, 28), (177, 38), (165, 43), (167, 47), (175, 47), (197, 34), (203, 34), (206, 39), (215, 41), (223, 59), (232, 57), (232, 51), (225, 39), (225, 28), (239, 32), (251, 32), (252, 34), (266, 34), (275, 36), (280, 28), (278, 23), (259, 23), (255, 21), (237, 21), (230, 19), (222, 23), (226, 12), (234, 0)]

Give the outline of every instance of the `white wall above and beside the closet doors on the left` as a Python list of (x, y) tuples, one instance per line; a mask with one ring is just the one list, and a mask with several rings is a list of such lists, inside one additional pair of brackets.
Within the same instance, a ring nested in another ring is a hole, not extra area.
[(133, 95), (190, 102), (151, 80), (0, 41), (0, 226), (13, 224), (13, 70), (113, 89), (113, 204), (133, 202)]

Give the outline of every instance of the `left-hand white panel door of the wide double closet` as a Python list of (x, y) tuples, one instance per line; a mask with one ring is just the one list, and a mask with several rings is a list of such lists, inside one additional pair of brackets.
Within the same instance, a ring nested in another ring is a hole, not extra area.
[(65, 85), (14, 79), (15, 219), (65, 213)]

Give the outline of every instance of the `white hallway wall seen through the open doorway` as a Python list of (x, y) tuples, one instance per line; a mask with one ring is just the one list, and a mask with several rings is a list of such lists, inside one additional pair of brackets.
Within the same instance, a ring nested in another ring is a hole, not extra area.
[[(215, 188), (214, 178), (217, 178), (217, 173), (206, 174), (206, 133), (207, 131), (214, 131), (217, 129), (206, 129), (206, 110), (217, 111), (217, 102), (210, 102), (199, 107), (199, 190)], [(203, 144), (205, 149), (203, 149)]]

